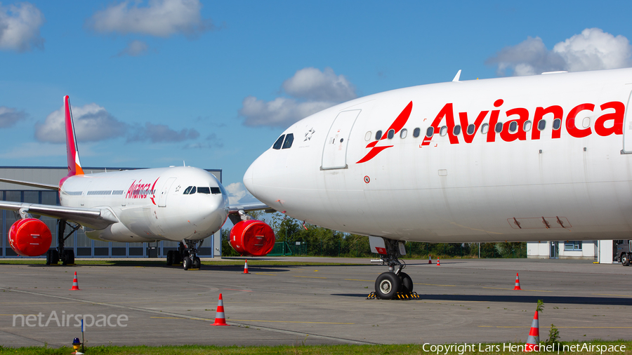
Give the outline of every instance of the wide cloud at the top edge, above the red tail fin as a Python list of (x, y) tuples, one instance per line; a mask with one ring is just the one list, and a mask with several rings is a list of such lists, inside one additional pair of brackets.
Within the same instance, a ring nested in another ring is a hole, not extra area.
[(148, 34), (194, 37), (214, 29), (211, 19), (202, 19), (199, 0), (122, 1), (96, 12), (86, 26), (100, 33)]

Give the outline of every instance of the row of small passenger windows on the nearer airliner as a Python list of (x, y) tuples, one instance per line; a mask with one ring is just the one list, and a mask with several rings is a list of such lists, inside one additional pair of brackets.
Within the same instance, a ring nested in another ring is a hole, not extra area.
[[(532, 126), (532, 122), (531, 121), (525, 121), (524, 125), (522, 126), (522, 130), (524, 130), (525, 132), (529, 132), (529, 130), (531, 130), (531, 126)], [(562, 120), (560, 119), (554, 119), (553, 120), (553, 129), (554, 130), (558, 130), (560, 129), (560, 127), (562, 126)], [(538, 130), (544, 130), (544, 128), (546, 128), (546, 120), (541, 119), (538, 122)], [(445, 136), (447, 135), (447, 126), (441, 126), (439, 128), (439, 135), (440, 136)], [(476, 126), (472, 123), (470, 125), (468, 125), (466, 132), (468, 133), (468, 135), (473, 135), (474, 131), (476, 130)], [(494, 126), (494, 132), (496, 133), (501, 133), (501, 131), (503, 130), (503, 123), (499, 122), (496, 123), (496, 126)], [(510, 133), (515, 133), (518, 130), (518, 123), (516, 121), (513, 121), (511, 123), (509, 123), (509, 132)], [(489, 132), (489, 123), (483, 123), (480, 126), (480, 133), (482, 134), (487, 134), (487, 132)], [(433, 134), (435, 133), (435, 128), (433, 126), (428, 127), (428, 129), (426, 129), (426, 137), (430, 138), (433, 136)], [(381, 140), (383, 135), (382, 135), (382, 131), (378, 130), (375, 133), (375, 140)], [(419, 135), (421, 134), (421, 128), (415, 128), (413, 130), (413, 138), (419, 138)], [(453, 130), (452, 130), (452, 134), (453, 135), (459, 135), (461, 134), (461, 125), (456, 125), (454, 126)], [(406, 128), (403, 128), (402, 130), (400, 130), (400, 138), (404, 139), (406, 138), (408, 135), (408, 130)], [(371, 137), (373, 135), (371, 134), (371, 131), (369, 130), (365, 135), (364, 135), (364, 140), (369, 141), (371, 140)], [(391, 129), (388, 130), (388, 132), (386, 133), (386, 138), (391, 140), (395, 137), (395, 130)], [(281, 138), (283, 138), (283, 136), (281, 136)], [(281, 139), (279, 138), (279, 139)], [(278, 140), (277, 140), (278, 142)], [(276, 143), (275, 143), (276, 145)], [(275, 148), (278, 149), (278, 148)]]

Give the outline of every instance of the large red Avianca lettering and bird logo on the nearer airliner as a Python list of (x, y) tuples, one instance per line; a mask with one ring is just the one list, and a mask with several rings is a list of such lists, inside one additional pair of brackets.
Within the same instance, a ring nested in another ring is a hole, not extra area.
[[(553, 118), (553, 129), (551, 130), (552, 139), (561, 137), (562, 126), (564, 126), (567, 133), (574, 138), (584, 138), (588, 135), (593, 134), (593, 129), (590, 127), (590, 125), (588, 125), (588, 127), (586, 128), (579, 128), (577, 127), (575, 122), (580, 112), (595, 112), (595, 104), (581, 103), (579, 105), (576, 105), (567, 113), (566, 119), (564, 117), (564, 109), (562, 109), (562, 107), (559, 105), (536, 107), (534, 109), (532, 120), (529, 121), (529, 118), (531, 117), (529, 109), (523, 107), (515, 107), (512, 109), (507, 109), (503, 112), (500, 109), (500, 107), (503, 105), (503, 102), (504, 101), (502, 99), (496, 100), (494, 102), (494, 107), (496, 107), (497, 109), (492, 109), (491, 113), (489, 110), (479, 112), (473, 123), (470, 123), (468, 119), (468, 112), (459, 112), (459, 121), (456, 121), (455, 123), (454, 105), (452, 104), (452, 102), (445, 104), (442, 109), (440, 109), (440, 112), (437, 114), (437, 116), (435, 116), (433, 123), (430, 125), (430, 127), (428, 127), (428, 131), (423, 138), (421, 146), (430, 145), (433, 136), (440, 132), (440, 126), (444, 119), (450, 144), (459, 144), (459, 134), (463, 134), (463, 141), (465, 141), (466, 143), (471, 143), (473, 142), (476, 133), (480, 131), (479, 128), (483, 124), (483, 121), (485, 121), (485, 118), (487, 118), (488, 114), (489, 123), (486, 123), (489, 125), (488, 130), (487, 133), (483, 133), (487, 134), (486, 142), (496, 142), (496, 135), (499, 136), (499, 140), (503, 140), (504, 142), (527, 140), (527, 133), (529, 132), (529, 130), (531, 131), (531, 140), (539, 140), (541, 131), (544, 130), (544, 126), (540, 128), (539, 123), (546, 118)], [(622, 135), (624, 113), (626, 109), (623, 102), (605, 102), (599, 105), (599, 109), (601, 110), (601, 114), (600, 116), (598, 116), (594, 123), (595, 133), (602, 137), (606, 137), (612, 134)], [(395, 134), (397, 134), (397, 132), (408, 121), (411, 111), (412, 101), (404, 108), (402, 113), (397, 116), (397, 119), (393, 121), (388, 130), (393, 129), (395, 130)], [(501, 112), (503, 113), (503, 118), (508, 119), (507, 121), (501, 119)], [(531, 123), (530, 126), (525, 125), (527, 121)], [(455, 128), (457, 126), (459, 128), (455, 131)], [(381, 140), (385, 138), (386, 134), (383, 135)], [(369, 143), (369, 145), (367, 145), (367, 148), (371, 148), (371, 151), (366, 156), (364, 156), (363, 159), (357, 161), (357, 163), (364, 163), (365, 161), (369, 161), (374, 156), (379, 154), (382, 150), (393, 147), (393, 145), (378, 147), (376, 146), (378, 142), (379, 140)]]

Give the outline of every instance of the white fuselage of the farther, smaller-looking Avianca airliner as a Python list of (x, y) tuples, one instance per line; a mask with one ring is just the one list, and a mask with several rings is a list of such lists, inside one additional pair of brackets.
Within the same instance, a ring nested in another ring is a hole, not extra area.
[[(184, 194), (187, 187), (196, 187), (196, 193)], [(220, 182), (190, 166), (70, 176), (60, 182), (60, 203), (108, 208), (119, 222), (86, 229), (88, 237), (104, 241), (200, 240), (228, 217), (228, 195)]]

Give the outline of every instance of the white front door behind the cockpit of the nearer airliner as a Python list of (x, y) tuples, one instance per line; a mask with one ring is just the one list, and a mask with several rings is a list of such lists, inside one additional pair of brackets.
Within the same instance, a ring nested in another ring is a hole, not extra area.
[(360, 111), (362, 110), (353, 109), (343, 111), (334, 119), (334, 123), (332, 123), (331, 128), (329, 128), (329, 133), (327, 133), (324, 148), (322, 149), (322, 170), (347, 167), (349, 135)]

